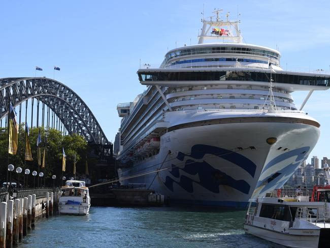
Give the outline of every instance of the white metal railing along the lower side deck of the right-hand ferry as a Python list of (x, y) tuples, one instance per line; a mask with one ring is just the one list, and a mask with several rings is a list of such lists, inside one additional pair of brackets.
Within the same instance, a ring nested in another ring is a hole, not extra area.
[(316, 207), (299, 207), (296, 211), (295, 218), (314, 225), (323, 224), (324, 227), (327, 223), (330, 223), (329, 211)]

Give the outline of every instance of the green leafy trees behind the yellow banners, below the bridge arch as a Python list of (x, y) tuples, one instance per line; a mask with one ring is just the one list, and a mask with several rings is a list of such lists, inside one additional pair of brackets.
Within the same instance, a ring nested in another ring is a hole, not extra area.
[[(76, 171), (77, 175), (84, 174), (86, 154), (87, 154), (87, 141), (84, 137), (77, 134), (62, 136), (60, 131), (50, 129), (47, 135), (47, 130), (39, 128), (42, 138), (41, 147), (41, 162), (43, 159), (44, 148), (46, 148), (46, 170), (45, 176), (51, 178), (52, 175), (56, 175), (57, 179), (62, 175), (62, 147), (64, 147), (65, 154), (67, 155), (67, 166), (63, 175), (69, 177), (73, 176), (73, 162), (76, 154)], [(38, 155), (37, 155), (37, 138), (39, 133), (38, 128), (29, 129), (29, 141), (31, 146), (33, 161), (25, 161), (25, 126), (24, 123), (19, 127), (18, 134), (18, 149), (17, 154), (9, 154), (9, 164), (13, 164), (15, 168), (21, 167), (23, 172), (21, 173), (21, 181), (24, 173), (24, 169), (28, 168), (30, 172), (38, 171)], [(8, 154), (8, 132), (5, 128), (0, 128), (0, 179), (6, 180), (7, 174), (7, 154)], [(44, 172), (44, 169), (39, 168)], [(32, 175), (28, 176), (29, 184), (33, 183)], [(12, 179), (17, 179), (17, 173), (12, 174)]]

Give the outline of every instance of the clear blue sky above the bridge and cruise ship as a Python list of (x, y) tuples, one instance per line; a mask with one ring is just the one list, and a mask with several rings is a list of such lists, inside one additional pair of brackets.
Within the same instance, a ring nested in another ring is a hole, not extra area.
[[(246, 43), (278, 47), (284, 69), (313, 71), (330, 66), (328, 1), (204, 1), (241, 13)], [(109, 140), (120, 126), (116, 105), (146, 87), (139, 61), (159, 65), (168, 49), (197, 43), (203, 1), (1, 1), (0, 78), (35, 75), (68, 85), (86, 102)], [(300, 106), (307, 92), (293, 94)], [(314, 92), (305, 111), (321, 123), (312, 154), (330, 157), (330, 90)]]

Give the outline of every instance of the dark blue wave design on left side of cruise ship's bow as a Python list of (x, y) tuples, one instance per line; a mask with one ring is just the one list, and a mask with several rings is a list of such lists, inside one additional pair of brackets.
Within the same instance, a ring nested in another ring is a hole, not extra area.
[[(247, 171), (252, 177), (255, 174), (256, 165), (249, 159), (245, 158), (241, 154), (236, 152), (226, 150), (223, 148), (219, 148), (216, 146), (210, 145), (201, 145), (197, 144), (191, 148), (191, 154), (187, 155), (183, 152), (179, 152), (177, 159), (180, 161), (184, 161), (185, 157), (189, 157), (186, 160), (183, 168), (179, 168), (175, 165), (172, 165), (172, 169), (169, 171), (172, 176), (175, 178), (179, 178), (179, 182), (175, 181), (172, 177), (166, 176), (166, 180), (164, 185), (171, 190), (173, 189), (173, 184), (177, 183), (180, 185), (188, 193), (193, 193), (193, 182), (200, 184), (205, 189), (218, 194), (219, 186), (226, 185), (231, 188), (234, 188), (244, 194), (248, 194), (250, 191), (250, 185), (245, 180), (236, 180), (233, 177), (227, 175), (226, 173), (213, 168), (210, 164), (203, 160), (203, 162), (196, 162), (193, 159), (202, 159), (205, 154), (212, 154), (229, 162), (232, 162), (245, 171)], [(193, 180), (185, 175), (180, 176), (180, 171), (184, 171), (190, 175), (199, 176), (200, 181)]]

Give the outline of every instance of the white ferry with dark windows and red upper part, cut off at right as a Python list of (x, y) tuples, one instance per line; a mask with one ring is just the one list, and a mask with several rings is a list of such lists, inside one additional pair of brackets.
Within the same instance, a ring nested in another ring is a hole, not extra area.
[(278, 190), (251, 199), (245, 232), (289, 247), (330, 247), (330, 186), (314, 186), (311, 196), (297, 195)]

